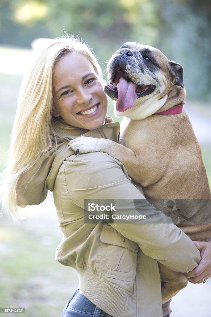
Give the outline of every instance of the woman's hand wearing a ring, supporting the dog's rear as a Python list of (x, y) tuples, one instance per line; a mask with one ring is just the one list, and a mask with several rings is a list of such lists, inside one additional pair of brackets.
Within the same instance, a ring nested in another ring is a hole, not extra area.
[(211, 277), (211, 240), (208, 242), (194, 241), (195, 246), (200, 250), (201, 261), (199, 265), (189, 273), (184, 275), (191, 283), (203, 283), (203, 278), (206, 280)]

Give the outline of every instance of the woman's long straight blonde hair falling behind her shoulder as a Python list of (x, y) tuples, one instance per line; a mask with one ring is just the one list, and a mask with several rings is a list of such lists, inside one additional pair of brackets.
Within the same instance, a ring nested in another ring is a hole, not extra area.
[(74, 37), (60, 37), (45, 49), (22, 80), (12, 130), (8, 163), (2, 174), (1, 200), (6, 212), (20, 217), (16, 186), (22, 173), (31, 168), (55, 137), (52, 76), (54, 65), (65, 54), (76, 51), (90, 61), (102, 81), (101, 68), (88, 46)]

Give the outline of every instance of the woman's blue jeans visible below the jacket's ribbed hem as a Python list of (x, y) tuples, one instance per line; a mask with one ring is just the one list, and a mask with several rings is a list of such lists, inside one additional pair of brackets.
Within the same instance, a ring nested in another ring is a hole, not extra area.
[[(88, 298), (79, 293), (79, 289), (72, 295), (67, 302), (62, 317), (111, 317), (96, 305), (94, 305)], [(169, 315), (165, 316), (169, 317)]]

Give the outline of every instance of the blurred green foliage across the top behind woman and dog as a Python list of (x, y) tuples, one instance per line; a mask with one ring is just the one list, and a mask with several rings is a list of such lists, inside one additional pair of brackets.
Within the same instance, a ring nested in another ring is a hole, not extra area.
[[(184, 67), (190, 98), (211, 99), (210, 0), (1, 0), (0, 43), (81, 37), (103, 63), (123, 42), (161, 49)], [(104, 67), (105, 68), (105, 67)]]

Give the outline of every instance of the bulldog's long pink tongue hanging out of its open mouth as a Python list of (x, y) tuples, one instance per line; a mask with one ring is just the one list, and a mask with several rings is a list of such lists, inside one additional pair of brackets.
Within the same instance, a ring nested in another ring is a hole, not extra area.
[(124, 112), (127, 109), (134, 106), (136, 101), (136, 89), (137, 85), (132, 81), (127, 81), (125, 77), (120, 77), (120, 81), (117, 86), (118, 100), (116, 102), (116, 110)]

